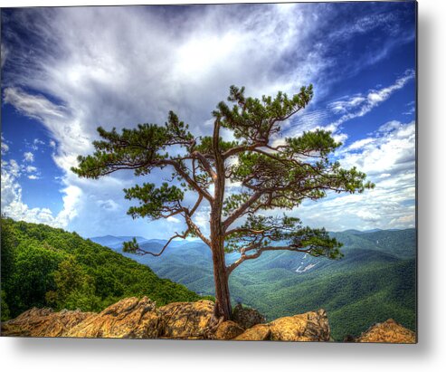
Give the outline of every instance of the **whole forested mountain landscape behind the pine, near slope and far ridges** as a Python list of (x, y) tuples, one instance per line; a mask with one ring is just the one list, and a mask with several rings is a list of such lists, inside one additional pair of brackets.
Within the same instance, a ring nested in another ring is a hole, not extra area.
[[(244, 262), (232, 274), (232, 304), (258, 309), (268, 320), (323, 308), (337, 340), (389, 318), (415, 329), (415, 230), (333, 235), (345, 244), (341, 260), (266, 252)], [(33, 306), (99, 311), (130, 296), (163, 305), (198, 300), (195, 292), (213, 295), (211, 252), (203, 243), (175, 242), (152, 257), (122, 253), (128, 239), (92, 238), (109, 249), (75, 233), (2, 218), (3, 320)], [(153, 252), (165, 243), (138, 241)], [(230, 253), (226, 260), (236, 258)]]

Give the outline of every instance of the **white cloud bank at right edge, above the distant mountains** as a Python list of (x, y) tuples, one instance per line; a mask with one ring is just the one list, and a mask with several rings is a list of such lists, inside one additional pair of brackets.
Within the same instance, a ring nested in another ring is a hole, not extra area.
[(306, 223), (349, 228), (359, 218), (363, 229), (408, 228), (415, 224), (415, 123), (391, 121), (343, 148), (343, 167), (357, 167), (375, 183), (364, 194), (328, 196), (296, 211)]

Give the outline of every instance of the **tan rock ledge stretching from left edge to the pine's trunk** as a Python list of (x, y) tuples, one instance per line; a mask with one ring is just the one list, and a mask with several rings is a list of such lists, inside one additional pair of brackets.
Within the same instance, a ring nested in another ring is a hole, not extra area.
[(100, 313), (51, 309), (25, 311), (2, 324), (3, 336), (110, 339), (204, 339), (214, 302), (174, 302), (160, 308), (131, 297)]

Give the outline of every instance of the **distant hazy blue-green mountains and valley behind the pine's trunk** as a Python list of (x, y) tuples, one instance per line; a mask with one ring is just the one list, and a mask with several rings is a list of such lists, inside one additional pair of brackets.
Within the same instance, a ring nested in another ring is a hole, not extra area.
[[(349, 230), (332, 235), (344, 243), (341, 260), (266, 252), (244, 262), (230, 278), (233, 304), (258, 309), (268, 320), (324, 308), (335, 339), (357, 336), (370, 324), (389, 318), (415, 329), (415, 230)], [(147, 239), (141, 246), (159, 252), (164, 243)], [(110, 247), (122, 253), (121, 245)], [(160, 257), (124, 254), (192, 291), (214, 293), (211, 252), (204, 243), (177, 242)], [(230, 253), (226, 261), (236, 258), (237, 253)]]

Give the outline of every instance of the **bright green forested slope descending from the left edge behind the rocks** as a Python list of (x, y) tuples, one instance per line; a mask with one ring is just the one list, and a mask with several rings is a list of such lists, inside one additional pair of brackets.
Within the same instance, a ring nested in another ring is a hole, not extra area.
[(33, 306), (103, 310), (122, 298), (199, 300), (183, 285), (75, 233), (2, 217), (2, 320)]

